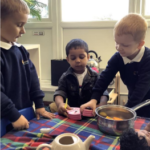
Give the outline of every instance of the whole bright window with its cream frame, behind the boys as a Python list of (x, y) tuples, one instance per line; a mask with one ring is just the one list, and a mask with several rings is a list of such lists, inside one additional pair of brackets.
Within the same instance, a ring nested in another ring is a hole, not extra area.
[[(42, 20), (30, 16), (28, 26), (51, 28), (61, 25), (74, 27), (113, 27), (128, 13), (141, 13), (150, 21), (150, 0), (38, 0), (46, 4), (41, 8)], [(44, 24), (42, 24), (42, 23)]]

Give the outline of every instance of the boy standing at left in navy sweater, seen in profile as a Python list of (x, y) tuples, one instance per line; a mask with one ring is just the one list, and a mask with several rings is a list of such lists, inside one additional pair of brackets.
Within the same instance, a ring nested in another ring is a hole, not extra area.
[(10, 120), (15, 129), (29, 127), (28, 120), (18, 110), (32, 107), (33, 102), (37, 119), (54, 117), (44, 108), (44, 93), (29, 53), (15, 43), (25, 34), (29, 12), (23, 0), (1, 0), (1, 118)]

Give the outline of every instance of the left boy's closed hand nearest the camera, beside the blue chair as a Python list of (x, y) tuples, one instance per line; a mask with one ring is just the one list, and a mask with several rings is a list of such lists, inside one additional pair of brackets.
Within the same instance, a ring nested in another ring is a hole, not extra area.
[(23, 115), (21, 115), (17, 121), (12, 122), (12, 125), (16, 130), (23, 130), (29, 128), (29, 122)]

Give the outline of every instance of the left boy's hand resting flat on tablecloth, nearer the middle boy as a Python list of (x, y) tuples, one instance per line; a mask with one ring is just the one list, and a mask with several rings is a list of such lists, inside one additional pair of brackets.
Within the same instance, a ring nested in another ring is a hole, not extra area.
[(37, 118), (37, 120), (40, 119), (40, 116), (43, 116), (43, 117), (46, 117), (46, 118), (49, 118), (49, 119), (53, 119), (55, 117), (55, 114), (47, 112), (45, 110), (45, 108), (38, 108), (38, 109), (36, 109), (36, 118)]

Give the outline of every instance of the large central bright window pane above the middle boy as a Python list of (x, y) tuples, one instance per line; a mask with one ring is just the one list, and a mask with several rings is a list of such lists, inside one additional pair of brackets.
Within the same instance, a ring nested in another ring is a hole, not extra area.
[(62, 0), (62, 21), (111, 21), (129, 12), (129, 0)]

